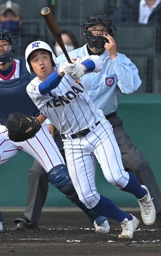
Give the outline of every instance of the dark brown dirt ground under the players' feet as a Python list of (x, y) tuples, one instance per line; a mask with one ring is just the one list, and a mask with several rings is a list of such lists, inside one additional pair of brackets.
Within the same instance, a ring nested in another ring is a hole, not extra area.
[[(3, 212), (3, 210), (2, 210)], [(140, 212), (129, 212), (141, 220)], [(145, 226), (140, 221), (133, 239), (119, 239), (120, 224), (108, 219), (110, 232), (95, 233), (81, 211), (43, 211), (39, 229), (14, 230), (13, 220), (22, 212), (3, 212), (4, 232), (0, 233), (0, 256), (143, 256), (161, 255), (161, 231), (156, 223)]]

